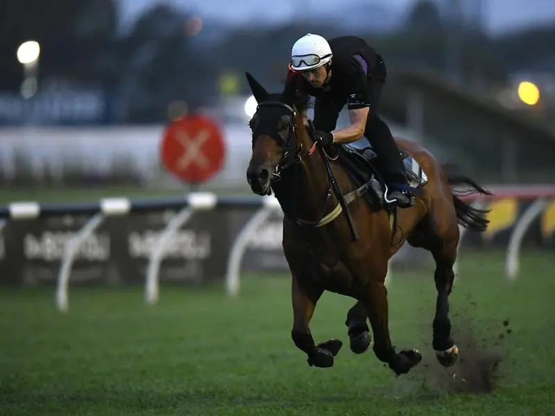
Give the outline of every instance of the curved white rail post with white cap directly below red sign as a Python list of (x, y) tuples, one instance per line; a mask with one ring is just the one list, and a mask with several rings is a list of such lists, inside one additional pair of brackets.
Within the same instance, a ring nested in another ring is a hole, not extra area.
[(168, 225), (162, 230), (156, 241), (156, 246), (148, 258), (146, 269), (145, 302), (153, 305), (158, 302), (160, 292), (160, 263), (164, 258), (166, 248), (176, 234), (178, 229), (184, 225), (195, 211), (213, 209), (216, 206), (217, 198), (214, 193), (195, 192), (189, 193), (186, 206), (179, 211), (178, 215), (171, 218)]

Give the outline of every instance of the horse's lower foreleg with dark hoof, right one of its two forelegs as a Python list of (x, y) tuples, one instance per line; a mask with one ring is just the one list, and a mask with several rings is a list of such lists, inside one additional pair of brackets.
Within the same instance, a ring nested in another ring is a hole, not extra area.
[(388, 327), (387, 289), (382, 281), (373, 281), (366, 290), (365, 302), (370, 325), (374, 333), (374, 354), (379, 361), (388, 363), (395, 374), (405, 374), (420, 363), (422, 355), (416, 349), (399, 354), (391, 345)]

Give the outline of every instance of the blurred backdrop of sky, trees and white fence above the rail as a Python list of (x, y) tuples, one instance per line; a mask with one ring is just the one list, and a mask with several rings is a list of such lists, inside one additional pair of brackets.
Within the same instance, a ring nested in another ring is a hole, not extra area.
[[(182, 184), (164, 125), (207, 114), (225, 136), (210, 189), (248, 191), (245, 71), (283, 86), (305, 33), (355, 34), (382, 54), (382, 114), (477, 180), (551, 182), (555, 5), (549, 0), (60, 0), (0, 11), (0, 183)], [(31, 41), (31, 42), (29, 42)], [(346, 123), (343, 116), (341, 123)]]

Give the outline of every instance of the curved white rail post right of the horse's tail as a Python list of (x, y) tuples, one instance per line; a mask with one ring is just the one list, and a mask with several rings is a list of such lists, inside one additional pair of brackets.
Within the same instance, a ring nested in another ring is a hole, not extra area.
[(547, 208), (547, 205), (549, 205), (549, 201), (546, 198), (540, 197), (536, 199), (524, 211), (524, 214), (522, 214), (518, 223), (513, 228), (513, 232), (511, 232), (505, 263), (505, 272), (511, 281), (518, 277), (518, 272), (520, 271), (520, 246), (522, 245), (522, 239), (524, 239), (532, 221)]

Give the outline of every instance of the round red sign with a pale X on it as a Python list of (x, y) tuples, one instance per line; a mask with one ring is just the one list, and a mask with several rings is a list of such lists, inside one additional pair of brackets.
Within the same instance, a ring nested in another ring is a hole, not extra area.
[(171, 123), (164, 131), (160, 152), (168, 171), (189, 183), (209, 180), (225, 159), (220, 129), (198, 114)]

